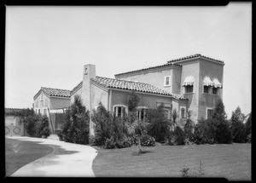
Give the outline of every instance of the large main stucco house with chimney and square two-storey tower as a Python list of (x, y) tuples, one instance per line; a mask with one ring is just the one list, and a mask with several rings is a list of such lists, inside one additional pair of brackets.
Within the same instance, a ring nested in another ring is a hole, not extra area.
[(140, 96), (139, 118), (145, 117), (147, 108), (156, 108), (163, 102), (167, 117), (176, 109), (179, 119), (183, 119), (190, 110), (191, 119), (197, 123), (201, 117), (210, 117), (216, 100), (222, 98), (223, 71), (223, 61), (201, 54), (119, 73), (115, 78), (96, 76), (96, 66), (88, 64), (84, 66), (83, 81), (70, 92), (70, 102), (79, 94), (90, 112), (102, 102), (108, 111), (122, 116), (122, 109), (128, 112), (127, 95), (133, 90)]

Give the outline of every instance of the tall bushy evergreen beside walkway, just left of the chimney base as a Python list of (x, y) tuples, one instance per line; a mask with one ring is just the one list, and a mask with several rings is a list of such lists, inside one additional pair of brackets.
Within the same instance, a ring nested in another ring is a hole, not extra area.
[(79, 95), (75, 95), (73, 104), (67, 110), (61, 134), (67, 142), (89, 144), (89, 111), (83, 106)]

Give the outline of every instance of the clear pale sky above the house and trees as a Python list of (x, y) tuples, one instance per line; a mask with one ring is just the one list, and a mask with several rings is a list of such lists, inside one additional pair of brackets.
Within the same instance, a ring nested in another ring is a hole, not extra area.
[(251, 112), (252, 3), (216, 7), (7, 6), (5, 107), (31, 108), (41, 87), (202, 54), (224, 61), (225, 112)]

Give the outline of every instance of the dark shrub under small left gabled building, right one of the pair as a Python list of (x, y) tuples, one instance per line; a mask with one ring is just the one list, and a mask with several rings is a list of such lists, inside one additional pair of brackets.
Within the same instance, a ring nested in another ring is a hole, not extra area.
[(49, 119), (47, 116), (40, 117), (36, 123), (36, 136), (42, 138), (49, 136)]

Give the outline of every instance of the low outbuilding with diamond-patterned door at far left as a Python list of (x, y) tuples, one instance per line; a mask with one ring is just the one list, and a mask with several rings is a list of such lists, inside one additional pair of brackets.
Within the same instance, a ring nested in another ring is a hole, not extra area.
[(24, 123), (21, 122), (20, 117), (15, 117), (14, 112), (18, 112), (22, 109), (19, 108), (5, 108), (5, 135), (13, 136), (13, 135), (20, 135), (24, 136), (27, 135), (26, 129), (24, 128)]

